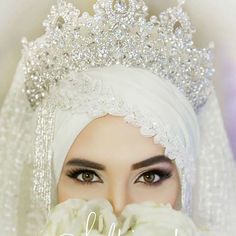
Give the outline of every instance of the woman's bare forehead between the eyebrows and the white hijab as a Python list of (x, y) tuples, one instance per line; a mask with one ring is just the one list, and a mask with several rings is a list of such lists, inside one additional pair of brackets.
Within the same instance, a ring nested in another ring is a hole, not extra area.
[(158, 154), (164, 154), (164, 148), (152, 137), (142, 135), (139, 127), (126, 123), (123, 117), (107, 114), (91, 121), (79, 133), (68, 156), (105, 162), (111, 157), (141, 161)]

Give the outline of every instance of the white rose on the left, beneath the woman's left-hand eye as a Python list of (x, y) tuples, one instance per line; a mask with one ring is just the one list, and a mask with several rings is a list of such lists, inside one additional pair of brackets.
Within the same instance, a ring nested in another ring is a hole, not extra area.
[[(69, 199), (51, 211), (42, 236), (102, 236), (117, 224), (113, 208), (106, 199)], [(87, 233), (87, 234), (86, 234)]]

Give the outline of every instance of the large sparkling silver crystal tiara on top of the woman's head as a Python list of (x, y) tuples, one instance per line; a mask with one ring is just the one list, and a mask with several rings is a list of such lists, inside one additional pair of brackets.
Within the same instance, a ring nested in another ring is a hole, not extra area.
[(91, 16), (58, 1), (43, 23), (45, 34), (33, 42), (22, 39), (24, 92), (32, 108), (70, 71), (122, 64), (170, 81), (197, 111), (211, 91), (214, 45), (194, 46), (195, 30), (182, 5), (178, 1), (158, 18), (148, 17), (143, 0), (97, 0)]

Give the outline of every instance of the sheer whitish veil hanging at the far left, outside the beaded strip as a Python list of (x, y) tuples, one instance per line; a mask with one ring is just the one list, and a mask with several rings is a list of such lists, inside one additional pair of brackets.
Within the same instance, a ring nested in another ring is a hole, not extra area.
[(20, 60), (0, 115), (2, 235), (24, 235), (30, 206), (34, 114), (22, 93), (23, 83)]

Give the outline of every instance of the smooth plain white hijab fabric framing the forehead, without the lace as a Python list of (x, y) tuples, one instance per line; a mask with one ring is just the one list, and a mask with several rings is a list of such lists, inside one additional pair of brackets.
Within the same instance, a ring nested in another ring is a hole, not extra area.
[[(127, 68), (122, 65), (88, 69), (86, 72), (74, 73), (72, 77), (75, 80), (82, 80), (86, 77), (89, 80), (102, 81), (103, 86), (112, 88), (123, 101), (138, 107), (142, 114), (148, 112), (156, 121), (167, 124), (171, 130), (171, 133), (168, 134), (169, 139), (178, 138), (184, 146), (184, 151), (188, 154), (186, 157), (170, 156), (170, 158), (190, 159), (191, 156), (197, 156), (199, 150), (197, 117), (187, 99), (171, 83), (161, 80), (147, 70)], [(109, 110), (102, 107), (100, 109), (104, 110), (104, 114), (109, 113)], [(70, 146), (81, 130), (96, 117), (98, 116), (91, 117), (86, 112), (74, 114), (71, 109), (57, 111), (53, 141), (56, 182), (58, 182)], [(158, 140), (163, 140), (166, 135), (167, 130), (164, 130), (164, 127), (161, 128), (160, 133), (155, 133), (154, 142), (156, 143)], [(149, 136), (146, 133), (143, 134)], [(163, 144), (166, 150), (171, 149), (170, 141)]]

